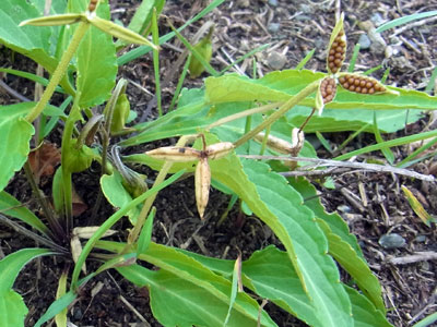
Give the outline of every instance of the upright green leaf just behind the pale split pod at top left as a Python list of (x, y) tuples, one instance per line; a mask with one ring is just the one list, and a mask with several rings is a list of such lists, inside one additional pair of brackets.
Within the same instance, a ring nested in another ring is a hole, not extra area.
[[(109, 5), (101, 3), (101, 17), (109, 19)], [(80, 107), (101, 105), (110, 97), (117, 75), (116, 47), (113, 37), (92, 26), (82, 39), (76, 56), (76, 88), (81, 92)]]

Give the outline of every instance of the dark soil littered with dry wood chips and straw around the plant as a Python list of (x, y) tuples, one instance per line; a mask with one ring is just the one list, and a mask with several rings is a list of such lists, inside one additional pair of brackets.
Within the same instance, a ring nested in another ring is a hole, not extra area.
[[(163, 14), (168, 16), (175, 25), (184, 24), (188, 19), (206, 5), (203, 0), (168, 0)], [(257, 75), (262, 76), (275, 69), (295, 66), (305, 55), (316, 49), (315, 57), (306, 68), (326, 71), (326, 52), (330, 32), (334, 25), (335, 11), (340, 1), (284, 1), (284, 0), (235, 0), (226, 1), (214, 10), (204, 20), (185, 29), (184, 35), (191, 38), (208, 21), (215, 23), (213, 38), (214, 55), (211, 64), (216, 69), (225, 68), (232, 60), (245, 55), (251, 49), (269, 43), (268, 50), (257, 53)], [(129, 20), (139, 1), (110, 1), (113, 17), (126, 22)], [(399, 16), (425, 12), (437, 9), (437, 1), (343, 1), (341, 11), (345, 13), (345, 29), (350, 49), (355, 45), (370, 20), (373, 24), (393, 20)], [(165, 22), (165, 20), (162, 20)], [(363, 23), (364, 22), (364, 23)], [(387, 45), (385, 51), (370, 48), (359, 51), (355, 69), (365, 71), (382, 64), (382, 69), (373, 75), (381, 77), (385, 69), (390, 68), (387, 84), (423, 90), (437, 61), (436, 20), (430, 17), (420, 25), (398, 27), (399, 34), (393, 31), (382, 33)], [(367, 24), (367, 25), (366, 25)], [(163, 23), (161, 33), (169, 32)], [(182, 47), (172, 40), (172, 47), (163, 46), (161, 66), (164, 78), (168, 83), (163, 87), (164, 110), (174, 93), (178, 75), (177, 58)], [(352, 50), (349, 51), (349, 57)], [(346, 58), (346, 62), (349, 58)], [(1, 66), (33, 72), (35, 64), (26, 58), (0, 48)], [(252, 59), (247, 59), (237, 68), (251, 76), (253, 71)], [(130, 62), (119, 70), (120, 76), (145, 87), (144, 92), (130, 84), (128, 95), (132, 109), (138, 112), (138, 120), (147, 120), (156, 117), (156, 106), (153, 101), (154, 77), (153, 63), (150, 56)], [(202, 83), (203, 74), (199, 78), (187, 81), (187, 87), (197, 87)], [(4, 77), (4, 82), (20, 95), (33, 98), (34, 86), (24, 78), (12, 75)], [(16, 102), (13, 95), (0, 89), (0, 104)], [(436, 108), (437, 109), (437, 108)], [(433, 128), (433, 116), (424, 118), (393, 135), (383, 135), (386, 140), (400, 137), (426, 131)], [(60, 130), (55, 131), (50, 141), (59, 144)], [(349, 133), (324, 135), (336, 148)], [(172, 143), (173, 140), (163, 141)], [(373, 135), (361, 135), (342, 149), (341, 153), (363, 147), (374, 143)], [(132, 152), (144, 150), (134, 148)], [(395, 161), (405, 158), (413, 150), (412, 146), (394, 149)], [(435, 149), (434, 149), (435, 150)], [(323, 148), (318, 150), (320, 157), (330, 158), (331, 154)], [(435, 153), (434, 153), (435, 154)], [(383, 160), (380, 153), (371, 154), (373, 159)], [(432, 157), (433, 158), (433, 157)], [(423, 173), (436, 174), (433, 159), (423, 160), (411, 167)], [(85, 226), (90, 218), (93, 204), (96, 202), (98, 190), (97, 167), (74, 175), (74, 185), (78, 194), (87, 204), (87, 210), (76, 217), (78, 226)], [(147, 172), (151, 173), (151, 172)], [(153, 175), (152, 175), (153, 178)], [(334, 190), (321, 187), (315, 183), (328, 211), (338, 210), (347, 221), (351, 231), (357, 235), (363, 252), (373, 271), (379, 278), (383, 288), (383, 298), (389, 308), (388, 318), (395, 326), (406, 326), (436, 311), (437, 282), (436, 262), (418, 261), (412, 264), (390, 264), (391, 258), (403, 257), (415, 252), (437, 251), (437, 233), (435, 227), (426, 227), (409, 206), (401, 186), (405, 185), (413, 191), (424, 205), (425, 209), (437, 215), (437, 192), (435, 184), (423, 181), (413, 181), (394, 174), (375, 172), (356, 172), (333, 175)], [(42, 186), (49, 194), (50, 178), (42, 181)], [(47, 190), (46, 190), (47, 189)], [(358, 190), (362, 190), (359, 193)], [(7, 189), (20, 201), (28, 203), (35, 209), (32, 192), (23, 173), (17, 174)], [(153, 241), (173, 246), (222, 258), (235, 259), (241, 251), (244, 258), (268, 244), (279, 244), (277, 239), (256, 217), (246, 217), (236, 209), (228, 214), (228, 218), (218, 226), (217, 221), (227, 207), (228, 197), (213, 191), (206, 210), (206, 219), (198, 218), (192, 179), (188, 178), (160, 193), (156, 199), (157, 216), (155, 219)], [(366, 201), (364, 201), (364, 198)], [(107, 203), (103, 203), (101, 217), (108, 217), (114, 211)], [(116, 226), (120, 231), (129, 228), (128, 222)], [(403, 238), (404, 245), (395, 249), (385, 249), (379, 240), (382, 235), (395, 233)], [(121, 232), (117, 238), (123, 240)], [(35, 246), (33, 241), (15, 231), (0, 226), (0, 258), (26, 246)], [(55, 299), (57, 279), (68, 262), (62, 258), (55, 261), (44, 257), (28, 264), (21, 271), (14, 289), (20, 292), (29, 308), (26, 326), (33, 326), (38, 317), (47, 310)], [(92, 269), (93, 263), (90, 263)], [(344, 274), (343, 274), (344, 275)], [(42, 277), (43, 276), (43, 277)], [(345, 280), (346, 280), (345, 276)], [(304, 326), (293, 316), (268, 304), (267, 310), (279, 326)], [(137, 314), (137, 312), (138, 314)], [(76, 326), (161, 326), (151, 314), (146, 290), (137, 288), (123, 280), (116, 271), (110, 270), (93, 279), (81, 293), (79, 301), (72, 306), (69, 315), (71, 323)]]

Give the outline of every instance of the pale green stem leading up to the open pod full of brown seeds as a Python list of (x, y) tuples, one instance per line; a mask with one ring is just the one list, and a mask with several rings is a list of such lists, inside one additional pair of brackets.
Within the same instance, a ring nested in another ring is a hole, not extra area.
[(290, 100), (287, 100), (285, 104), (283, 104), (275, 112), (273, 112), (267, 120), (264, 120), (262, 123), (260, 123), (258, 126), (256, 126), (253, 130), (251, 130), (249, 133), (246, 133), (243, 135), (240, 138), (238, 138), (234, 145), (235, 147), (240, 146), (241, 144), (245, 144), (247, 141), (252, 138), (255, 135), (257, 135), (259, 132), (261, 132), (263, 129), (267, 126), (270, 126), (272, 123), (274, 123), (280, 117), (282, 117), (285, 112), (287, 112), (290, 109), (292, 109), (294, 106), (296, 106), (298, 102), (300, 102), (303, 99), (305, 99), (307, 96), (309, 96), (311, 93), (317, 90), (317, 87), (319, 86), (320, 81), (315, 81), (311, 84), (309, 84), (307, 87), (305, 87), (303, 90), (300, 90), (297, 95), (292, 97)]

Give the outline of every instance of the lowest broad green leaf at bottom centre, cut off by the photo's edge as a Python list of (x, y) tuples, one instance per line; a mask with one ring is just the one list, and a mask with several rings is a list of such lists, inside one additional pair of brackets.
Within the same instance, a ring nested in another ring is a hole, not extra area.
[[(117, 270), (135, 284), (149, 288), (153, 315), (164, 326), (223, 326), (228, 306), (225, 301), (228, 294), (225, 292), (231, 293), (229, 282), (224, 282), (222, 290), (218, 291), (215, 287), (203, 288), (165, 269), (152, 271), (132, 265)], [(211, 272), (211, 277), (213, 276), (216, 275)], [(209, 276), (203, 276), (199, 281), (210, 282)], [(217, 292), (222, 296), (214, 294)], [(251, 312), (248, 312), (247, 307), (236, 308), (241, 306), (244, 301), (249, 302), (249, 299), (246, 294), (238, 294), (226, 326), (257, 325), (258, 311), (253, 300), (250, 299)], [(261, 326), (276, 325), (263, 312)]]

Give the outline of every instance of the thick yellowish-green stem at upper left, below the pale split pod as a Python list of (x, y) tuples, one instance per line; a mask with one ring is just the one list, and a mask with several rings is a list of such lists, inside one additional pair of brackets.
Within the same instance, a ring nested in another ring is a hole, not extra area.
[(56, 68), (54, 74), (51, 75), (50, 82), (48, 83), (44, 94), (39, 100), (39, 102), (31, 110), (31, 112), (26, 116), (26, 120), (28, 122), (33, 122), (46, 108), (48, 101), (50, 100), (55, 88), (58, 86), (62, 76), (64, 75), (67, 68), (73, 58), (75, 50), (79, 47), (83, 36), (90, 27), (90, 23), (86, 21), (80, 22), (78, 28), (74, 32), (74, 35), (71, 39), (69, 47), (66, 52), (63, 52), (61, 60), (59, 61), (58, 66)]

